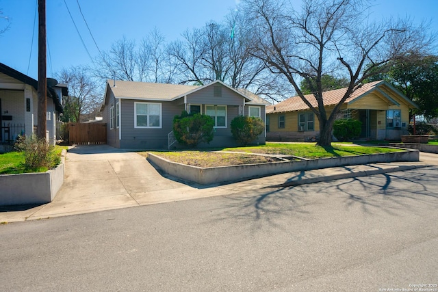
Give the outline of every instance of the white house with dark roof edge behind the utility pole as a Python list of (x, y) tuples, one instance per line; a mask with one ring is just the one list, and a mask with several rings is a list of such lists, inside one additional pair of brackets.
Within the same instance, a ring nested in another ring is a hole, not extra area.
[[(47, 141), (56, 142), (56, 126), (62, 113), (67, 85), (47, 79)], [(0, 145), (13, 144), (18, 135), (38, 129), (38, 81), (0, 63)], [(1, 150), (1, 149), (0, 149)]]

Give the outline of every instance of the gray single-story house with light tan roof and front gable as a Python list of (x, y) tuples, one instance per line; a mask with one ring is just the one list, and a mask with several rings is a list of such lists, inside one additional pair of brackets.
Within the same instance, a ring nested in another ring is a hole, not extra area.
[[(230, 123), (236, 116), (266, 120), (267, 101), (222, 81), (207, 85), (177, 85), (108, 80), (101, 111), (107, 124), (107, 144), (116, 148), (178, 148), (173, 118), (186, 110), (214, 118), (214, 140), (198, 147), (235, 146)], [(266, 143), (266, 133), (254, 142)]]

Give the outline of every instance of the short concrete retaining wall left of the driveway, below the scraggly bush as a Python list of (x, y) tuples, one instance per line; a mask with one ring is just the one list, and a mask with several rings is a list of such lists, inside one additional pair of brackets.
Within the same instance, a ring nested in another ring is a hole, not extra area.
[(63, 150), (62, 163), (53, 170), (27, 174), (0, 175), (0, 206), (45, 204), (55, 198), (64, 183)]

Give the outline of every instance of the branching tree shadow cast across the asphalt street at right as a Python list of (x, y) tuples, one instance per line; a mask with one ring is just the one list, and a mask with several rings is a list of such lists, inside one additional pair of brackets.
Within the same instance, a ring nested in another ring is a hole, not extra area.
[[(336, 208), (333, 213), (359, 212), (363, 217), (417, 212), (411, 207), (413, 202), (438, 209), (437, 173), (437, 167), (428, 167), (309, 185), (250, 189), (226, 196), (228, 203), (218, 210), (216, 220), (244, 221), (253, 226), (251, 229), (270, 226), (290, 230), (291, 222), (315, 220), (318, 210), (328, 208)], [(285, 184), (294, 179), (296, 176), (288, 178)]]

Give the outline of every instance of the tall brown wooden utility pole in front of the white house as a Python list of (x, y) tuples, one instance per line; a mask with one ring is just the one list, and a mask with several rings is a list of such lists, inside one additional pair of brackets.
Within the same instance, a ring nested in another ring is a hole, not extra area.
[(38, 138), (46, 139), (46, 0), (38, 0)]

